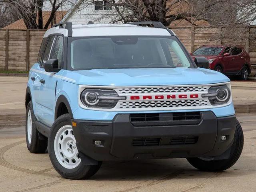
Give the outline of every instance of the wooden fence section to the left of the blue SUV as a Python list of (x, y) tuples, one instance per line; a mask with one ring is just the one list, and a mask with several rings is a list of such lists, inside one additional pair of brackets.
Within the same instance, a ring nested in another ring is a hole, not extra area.
[(28, 71), (46, 30), (0, 29), (0, 70)]

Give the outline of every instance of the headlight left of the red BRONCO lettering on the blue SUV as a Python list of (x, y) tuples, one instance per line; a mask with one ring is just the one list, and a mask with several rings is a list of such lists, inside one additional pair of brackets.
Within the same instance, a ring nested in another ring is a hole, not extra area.
[(118, 100), (125, 100), (126, 96), (119, 96), (112, 89), (87, 88), (80, 95), (81, 102), (88, 108), (114, 108)]

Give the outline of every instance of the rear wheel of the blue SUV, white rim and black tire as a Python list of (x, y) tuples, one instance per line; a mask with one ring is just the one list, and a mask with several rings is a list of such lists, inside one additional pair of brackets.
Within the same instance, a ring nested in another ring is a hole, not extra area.
[(47, 149), (47, 137), (44, 137), (35, 127), (35, 116), (32, 101), (26, 109), (26, 143), (31, 153), (44, 153)]

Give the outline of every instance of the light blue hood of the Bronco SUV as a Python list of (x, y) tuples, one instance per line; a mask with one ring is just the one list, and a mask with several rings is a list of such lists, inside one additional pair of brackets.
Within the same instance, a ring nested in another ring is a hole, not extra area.
[(209, 69), (150, 68), (150, 69), (93, 69), (84, 71), (62, 70), (66, 80), (81, 85), (98, 86), (154, 86), (212, 84), (229, 82), (224, 74)]

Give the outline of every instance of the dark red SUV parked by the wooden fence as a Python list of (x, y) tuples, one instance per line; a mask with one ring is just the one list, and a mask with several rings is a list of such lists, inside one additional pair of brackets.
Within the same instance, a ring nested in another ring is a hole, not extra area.
[(240, 76), (247, 80), (251, 73), (250, 56), (243, 47), (233, 45), (203, 45), (190, 54), (194, 57), (206, 57), (210, 69), (227, 76)]

